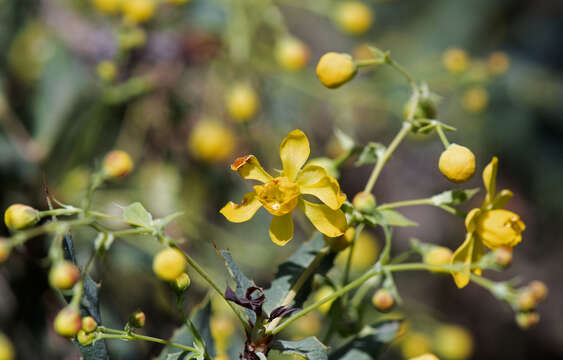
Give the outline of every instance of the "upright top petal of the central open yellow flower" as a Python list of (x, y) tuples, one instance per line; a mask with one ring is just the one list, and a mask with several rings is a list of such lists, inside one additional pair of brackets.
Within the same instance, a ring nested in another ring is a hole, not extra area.
[(280, 145), (283, 174), (295, 180), (297, 173), (309, 158), (309, 139), (303, 131), (293, 130)]

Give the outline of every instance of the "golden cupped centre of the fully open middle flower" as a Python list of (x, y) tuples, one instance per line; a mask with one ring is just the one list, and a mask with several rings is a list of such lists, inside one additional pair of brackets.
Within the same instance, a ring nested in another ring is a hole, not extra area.
[(254, 187), (258, 200), (272, 215), (290, 213), (297, 206), (299, 185), (285, 176), (272, 179)]

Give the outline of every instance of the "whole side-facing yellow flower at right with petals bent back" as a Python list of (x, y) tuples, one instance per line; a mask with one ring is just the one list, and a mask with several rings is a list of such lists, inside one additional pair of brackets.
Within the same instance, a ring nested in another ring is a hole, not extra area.
[(480, 209), (473, 209), (465, 217), (467, 234), (465, 241), (454, 252), (451, 263), (463, 263), (467, 267), (463, 271), (452, 272), (455, 283), (459, 288), (469, 283), (470, 271), (481, 275), (481, 269), (470, 270), (471, 264), (479, 262), (485, 249), (512, 248), (522, 241), (522, 232), (526, 228), (518, 214), (504, 210), (512, 192), (502, 190), (496, 194), (496, 177), (498, 159), (493, 157), (483, 170), (483, 182), (487, 195)]

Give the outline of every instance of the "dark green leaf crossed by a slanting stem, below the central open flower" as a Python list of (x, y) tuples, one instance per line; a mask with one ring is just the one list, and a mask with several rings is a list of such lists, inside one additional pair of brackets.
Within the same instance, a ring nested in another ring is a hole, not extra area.
[[(326, 246), (323, 235), (318, 233), (310, 241), (303, 243), (291, 257), (280, 264), (275, 279), (270, 288), (265, 291), (266, 302), (264, 310), (270, 313), (273, 309), (281, 306), (291, 287), (295, 285), (299, 276), (313, 262), (319, 251)], [(329, 253), (323, 257), (317, 269), (309, 276), (295, 297), (292, 307), (301, 307), (311, 293), (312, 279), (315, 274), (326, 274), (334, 264), (335, 253)]]

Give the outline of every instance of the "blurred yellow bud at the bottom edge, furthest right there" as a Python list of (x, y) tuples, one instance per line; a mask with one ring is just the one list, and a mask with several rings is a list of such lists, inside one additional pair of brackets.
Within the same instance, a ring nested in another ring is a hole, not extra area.
[(473, 337), (461, 326), (442, 326), (434, 334), (434, 348), (446, 359), (468, 359), (473, 353)]

